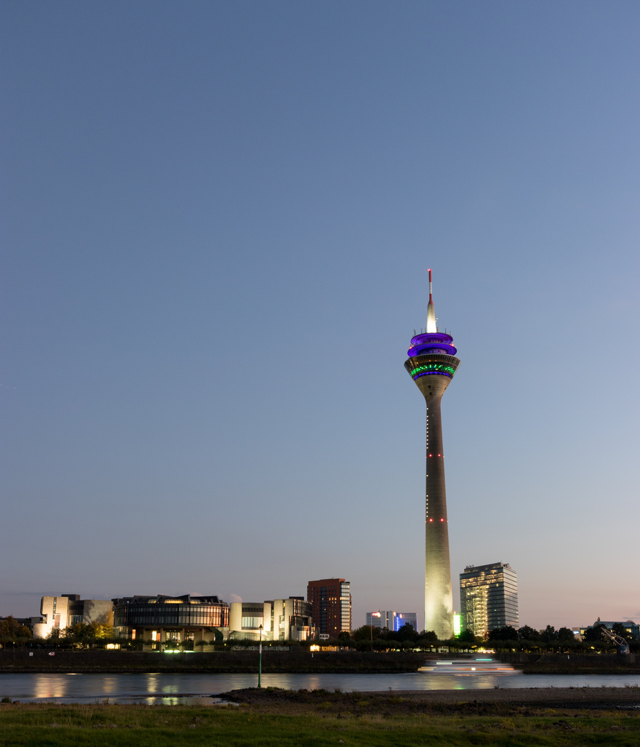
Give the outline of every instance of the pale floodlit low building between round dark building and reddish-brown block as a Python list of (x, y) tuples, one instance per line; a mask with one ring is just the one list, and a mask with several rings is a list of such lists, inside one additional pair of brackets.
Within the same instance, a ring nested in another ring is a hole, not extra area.
[(229, 605), (230, 639), (306, 641), (313, 637), (311, 602), (304, 597)]

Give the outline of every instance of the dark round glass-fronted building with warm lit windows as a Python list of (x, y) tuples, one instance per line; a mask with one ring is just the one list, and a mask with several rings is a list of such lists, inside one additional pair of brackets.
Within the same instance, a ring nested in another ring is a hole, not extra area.
[(193, 651), (223, 640), (229, 626), (229, 605), (216, 596), (135, 596), (113, 602), (116, 635), (142, 641), (152, 651)]

